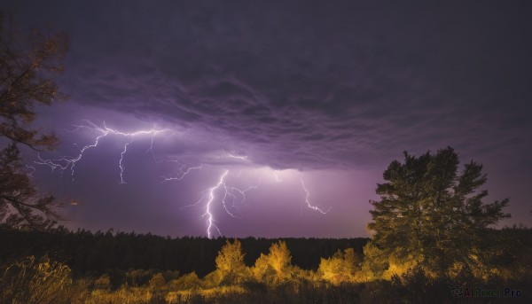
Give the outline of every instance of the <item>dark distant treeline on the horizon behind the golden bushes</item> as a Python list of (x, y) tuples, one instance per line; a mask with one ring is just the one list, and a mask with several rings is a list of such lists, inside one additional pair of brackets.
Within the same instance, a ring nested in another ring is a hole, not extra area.
[[(0, 263), (23, 256), (47, 257), (66, 263), (74, 277), (98, 276), (112, 269), (161, 269), (203, 277), (215, 270), (215, 257), (227, 238), (170, 238), (135, 232), (71, 231), (64, 227), (47, 231), (0, 228)], [(368, 238), (240, 238), (252, 266), (272, 243), (283, 240), (290, 247), (293, 265), (314, 269), (320, 259), (338, 250), (353, 248), (362, 254)]]

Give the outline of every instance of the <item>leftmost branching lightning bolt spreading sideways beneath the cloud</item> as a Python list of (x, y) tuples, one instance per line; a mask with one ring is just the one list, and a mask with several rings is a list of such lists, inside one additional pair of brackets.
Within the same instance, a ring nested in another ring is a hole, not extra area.
[[(126, 154), (126, 152), (128, 152), (129, 144), (131, 144), (133, 142), (133, 140), (135, 139), (136, 136), (151, 135), (152, 136), (152, 142), (151, 142), (151, 146), (148, 149), (148, 151), (152, 151), (153, 152), (153, 136), (156, 136), (157, 134), (166, 131), (166, 129), (158, 130), (158, 129), (153, 128), (153, 129), (143, 129), (143, 130), (138, 130), (138, 131), (131, 132), (131, 133), (126, 133), (126, 132), (119, 131), (117, 129), (107, 128), (106, 122), (104, 122), (104, 127), (103, 128), (98, 127), (96, 124), (94, 124), (91, 121), (84, 121), (84, 122), (85, 122), (84, 125), (74, 126), (74, 130), (72, 130), (71, 132), (76, 132), (76, 131), (78, 131), (80, 129), (90, 129), (92, 131), (98, 132), (100, 135), (96, 137), (96, 139), (94, 140), (93, 144), (84, 145), (81, 149), (78, 148), (79, 149), (79, 154), (77, 156), (75, 156), (75, 157), (63, 156), (62, 158), (57, 159), (57, 160), (44, 160), (41, 157), (40, 154), (37, 154), (37, 158), (39, 160), (38, 161), (35, 160), (35, 164), (48, 166), (48, 167), (51, 168), (52, 171), (59, 168), (59, 170), (61, 172), (61, 175), (63, 174), (63, 172), (66, 169), (70, 168), (71, 175), (72, 175), (72, 181), (74, 181), (75, 165), (76, 165), (76, 163), (78, 161), (82, 160), (84, 152), (86, 152), (90, 148), (97, 147), (98, 144), (99, 144), (100, 139), (102, 139), (102, 138), (104, 138), (106, 136), (109, 136), (109, 135), (126, 136), (126, 137), (130, 138), (130, 140), (129, 140), (128, 143), (124, 144), (124, 149), (123, 149), (123, 151), (120, 154), (120, 160), (119, 160), (119, 164), (118, 164), (118, 167), (120, 168), (120, 182), (119, 183), (126, 183), (125, 180), (124, 180), (125, 166), (124, 166), (123, 162), (124, 162), (124, 155)], [(77, 144), (74, 144), (74, 145), (77, 147)]]

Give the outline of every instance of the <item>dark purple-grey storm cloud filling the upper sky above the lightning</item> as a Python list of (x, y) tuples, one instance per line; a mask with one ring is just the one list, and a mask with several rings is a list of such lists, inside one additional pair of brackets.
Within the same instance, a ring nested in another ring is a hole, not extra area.
[(382, 170), (404, 150), (451, 145), (513, 173), (532, 162), (525, 2), (10, 6), (70, 31), (73, 103), (188, 130), (161, 153)]

